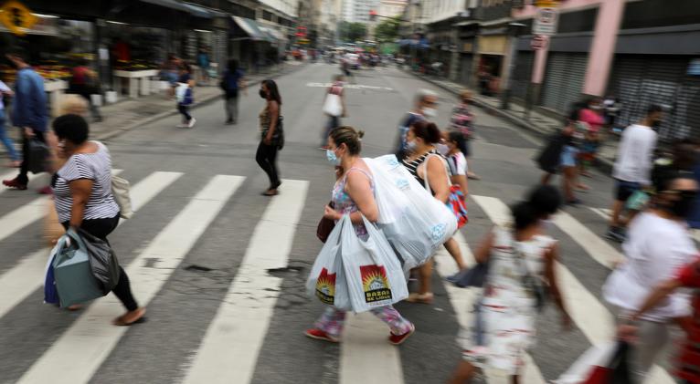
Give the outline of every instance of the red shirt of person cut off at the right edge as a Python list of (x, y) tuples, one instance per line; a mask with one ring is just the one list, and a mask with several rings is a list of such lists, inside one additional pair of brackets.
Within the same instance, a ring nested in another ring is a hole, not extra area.
[[(700, 260), (684, 266), (676, 278), (682, 285), (700, 288)], [(692, 300), (693, 320), (688, 327), (688, 337), (678, 355), (678, 377), (689, 383), (700, 384), (700, 290), (695, 289)]]

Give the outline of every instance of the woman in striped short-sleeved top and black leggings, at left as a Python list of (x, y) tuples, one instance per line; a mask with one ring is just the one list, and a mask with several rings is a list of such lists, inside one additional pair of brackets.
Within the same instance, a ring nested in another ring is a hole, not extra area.
[[(53, 122), (58, 139), (57, 155), (65, 160), (53, 175), (58, 221), (65, 229), (82, 229), (101, 240), (119, 223), (119, 206), (111, 192), (111, 156), (100, 141), (88, 140), (90, 129), (78, 115), (64, 115)], [(129, 276), (120, 266), (120, 277), (112, 290), (127, 312), (112, 322), (115, 326), (131, 326), (142, 322), (145, 308), (133, 298)]]

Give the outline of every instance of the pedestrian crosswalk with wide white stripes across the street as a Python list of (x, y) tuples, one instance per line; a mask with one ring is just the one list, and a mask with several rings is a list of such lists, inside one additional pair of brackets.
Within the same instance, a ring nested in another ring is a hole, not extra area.
[[(164, 199), (164, 192), (177, 182), (186, 182), (185, 173), (178, 171), (153, 171), (134, 180), (131, 191), (134, 216), (133, 219), (122, 221), (120, 226), (128, 226), (130, 230), (139, 226), (143, 221), (151, 220), (143, 210)], [(134, 296), (140, 305), (148, 306), (159, 296), (167, 292), (167, 283), (181, 267), (187, 255), (200, 244), (203, 244), (205, 234), (227, 204), (239, 196), (247, 183), (246, 177), (237, 175), (210, 175), (201, 186), (183, 197), (185, 201), (168, 202), (173, 215), (160, 223), (152, 239), (136, 247), (134, 256), (128, 263), (122, 263), (132, 280)], [(252, 234), (247, 240), (245, 253), (232, 279), (224, 286), (226, 294), (216, 304), (216, 310), (211, 311), (203, 321), (205, 327), (196, 346), (188, 350), (186, 356), (179, 357), (179, 370), (162, 372), (165, 378), (158, 382), (184, 383), (258, 383), (260, 374), (261, 355), (267, 352), (263, 348), (269, 342), (271, 334), (278, 333), (275, 327), (281, 327), (274, 322), (279, 308), (279, 299), (285, 289), (285, 277), (270, 274), (270, 271), (281, 270), (288, 266), (291, 260), (292, 245), (302, 242), (300, 228), (315, 226), (318, 217), (308, 217), (304, 207), (308, 205), (310, 191), (314, 188), (327, 189), (326, 185), (315, 186), (301, 180), (285, 180), (279, 196), (264, 200), (266, 206), (260, 218), (254, 223)], [(483, 225), (490, 223), (505, 223), (509, 220), (509, 210), (506, 202), (497, 196), (471, 195), (472, 212), (483, 212)], [(323, 202), (318, 202), (323, 207)], [(4, 241), (21, 235), (21, 230), (36, 224), (45, 213), (46, 198), (38, 198), (24, 205), (14, 207), (8, 213), (0, 216), (0, 253), (11, 251), (4, 246)], [(321, 209), (320, 212), (323, 212)], [(236, 213), (230, 213), (236, 216)], [(319, 213), (320, 214), (320, 213)], [(244, 220), (234, 217), (233, 220)], [(309, 223), (311, 222), (311, 223)], [(588, 263), (595, 267), (604, 266), (606, 270), (622, 259), (622, 255), (610, 244), (593, 233), (589, 227), (579, 222), (571, 213), (558, 213), (554, 223), (565, 238), (569, 247), (578, 247), (588, 255)], [(470, 223), (460, 234), (456, 235), (461, 245), (462, 254), (469, 265), (474, 260), (471, 249), (477, 245), (478, 239), (469, 236)], [(120, 229), (117, 233), (122, 232)], [(469, 240), (467, 239), (469, 237)], [(468, 244), (471, 243), (471, 244)], [(318, 244), (308, 245), (308, 260), (313, 260), (313, 254), (318, 251)], [(117, 250), (119, 253), (119, 250)], [(18, 257), (14, 265), (5, 265), (0, 270), (0, 327), (13, 321), (16, 308), (27, 306), (42, 306), (39, 291), (48, 256), (47, 249), (34, 250), (26, 256)], [(457, 272), (451, 256), (440, 250), (435, 256), (438, 275), (445, 277)], [(614, 319), (610, 309), (599, 298), (599, 290), (591, 286), (589, 281), (582, 279), (576, 265), (567, 265), (564, 261), (557, 263), (557, 273), (563, 288), (571, 317), (576, 328), (589, 345), (599, 345), (610, 340), (614, 332)], [(308, 271), (305, 271), (308, 272)], [(598, 283), (598, 282), (597, 282)], [(456, 318), (454, 322), (462, 328), (472, 324), (472, 305), (480, 295), (479, 288), (457, 288), (444, 284), (446, 293), (443, 299), (436, 296), (436, 302), (444, 300), (443, 306), (450, 306)], [(313, 301), (313, 299), (309, 299)], [(423, 306), (425, 311), (432, 311), (430, 306)], [(54, 308), (46, 306), (45, 316), (58, 316)], [(29, 354), (36, 356), (32, 361), (25, 361), (21, 372), (10, 375), (9, 379), (0, 375), (0, 383), (86, 383), (105, 369), (114, 349), (123, 343), (133, 343), (132, 337), (141, 335), (140, 327), (112, 327), (111, 319), (121, 314), (121, 304), (112, 296), (106, 296), (91, 303), (81, 312), (69, 319), (66, 327), (58, 328), (59, 335), (48, 337), (52, 340), (50, 346), (25, 345), (22, 348), (36, 348)], [(175, 316), (175, 314), (173, 315)], [(435, 311), (430, 316), (440, 316)], [(150, 318), (149, 323), (165, 323), (164, 318)], [(52, 329), (25, 329), (13, 322), (8, 332), (53, 332)], [(307, 326), (311, 326), (308, 324)], [(168, 327), (164, 324), (164, 327)], [(205, 331), (206, 329), (206, 331)], [(294, 329), (300, 338), (290, 340), (290, 343), (317, 343), (301, 337), (303, 327)], [(429, 324), (417, 324), (417, 332), (430, 332)], [(564, 334), (563, 334), (564, 335)], [(0, 335), (0, 337), (3, 337)], [(174, 335), (173, 337), (177, 337)], [(307, 353), (318, 354), (309, 356), (308, 361), (324, 361), (329, 358), (337, 367), (332, 378), (309, 377), (306, 382), (340, 382), (350, 383), (383, 383), (403, 384), (414, 383), (414, 379), (404, 374), (409, 365), (420, 364), (425, 369), (431, 365), (426, 361), (413, 360), (414, 357), (401, 353), (386, 342), (387, 328), (377, 318), (366, 314), (350, 315), (344, 334), (344, 342), (338, 348), (319, 348)], [(566, 336), (564, 336), (566, 337)], [(454, 335), (456, 340), (458, 335)], [(3, 339), (0, 338), (0, 345)], [(409, 340), (408, 343), (411, 343)], [(556, 344), (550, 340), (540, 340), (537, 347), (525, 357), (524, 379), (527, 384), (544, 384), (556, 379), (557, 374), (565, 371), (573, 363), (578, 354), (567, 355), (567, 350), (560, 351), (555, 361), (548, 363), (556, 365), (544, 367), (543, 360), (551, 356), (551, 350)], [(8, 347), (13, 348), (13, 347)], [(148, 350), (133, 350), (134, 359), (147, 359), (151, 354), (159, 353), (157, 345)], [(290, 345), (288, 353), (294, 353), (294, 345)], [(331, 348), (331, 349), (329, 349)], [(558, 352), (558, 351), (557, 351)], [(425, 358), (425, 357), (423, 357)], [(458, 357), (456, 357), (458, 358)], [(456, 360), (455, 360), (456, 361)], [(67, 363), (69, 362), (69, 363)], [(377, 363), (377, 362), (380, 362)], [(538, 362), (540, 365), (538, 365)], [(128, 362), (126, 362), (128, 364)], [(0, 360), (0, 372), (5, 368), (15, 366), (12, 359)], [(303, 370), (303, 367), (292, 367)], [(170, 376), (169, 376), (170, 375)], [(334, 375), (334, 376), (333, 376)], [(446, 378), (449, 372), (435, 372), (436, 378)], [(673, 383), (668, 372), (660, 367), (652, 371), (650, 383)], [(484, 372), (489, 383), (505, 383), (507, 378), (499, 372)], [(115, 380), (118, 382), (119, 380)], [(435, 382), (441, 382), (436, 379)]]

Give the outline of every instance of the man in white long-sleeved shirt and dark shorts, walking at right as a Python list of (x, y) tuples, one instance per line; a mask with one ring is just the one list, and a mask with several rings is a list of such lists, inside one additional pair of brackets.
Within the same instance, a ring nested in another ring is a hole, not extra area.
[(610, 240), (624, 240), (628, 220), (621, 217), (622, 208), (634, 192), (651, 185), (652, 155), (657, 140), (654, 128), (659, 127), (662, 118), (662, 107), (652, 105), (639, 124), (633, 124), (622, 132), (618, 156), (612, 171), (616, 186), (610, 228), (606, 234)]

